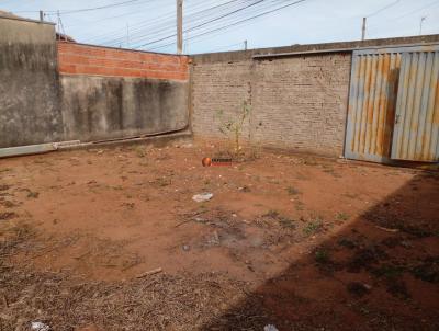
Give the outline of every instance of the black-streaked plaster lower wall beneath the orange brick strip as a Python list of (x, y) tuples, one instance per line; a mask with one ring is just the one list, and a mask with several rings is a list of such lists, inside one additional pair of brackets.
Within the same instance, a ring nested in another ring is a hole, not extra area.
[(66, 139), (128, 138), (184, 129), (187, 82), (63, 75)]

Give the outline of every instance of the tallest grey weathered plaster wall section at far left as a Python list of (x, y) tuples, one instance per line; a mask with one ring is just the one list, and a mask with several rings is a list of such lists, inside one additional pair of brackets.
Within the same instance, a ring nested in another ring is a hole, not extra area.
[(0, 148), (63, 138), (55, 28), (0, 18)]

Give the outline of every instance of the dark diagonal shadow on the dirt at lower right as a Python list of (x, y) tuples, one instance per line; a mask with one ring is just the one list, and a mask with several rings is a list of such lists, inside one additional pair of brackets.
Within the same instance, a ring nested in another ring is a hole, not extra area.
[(439, 173), (420, 172), (201, 330), (268, 324), (439, 330)]

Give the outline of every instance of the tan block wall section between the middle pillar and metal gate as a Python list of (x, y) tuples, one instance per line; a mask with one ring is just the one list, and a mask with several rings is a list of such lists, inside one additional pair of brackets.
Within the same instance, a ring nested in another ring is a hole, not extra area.
[(342, 155), (350, 54), (258, 61), (252, 81), (251, 140), (338, 157)]

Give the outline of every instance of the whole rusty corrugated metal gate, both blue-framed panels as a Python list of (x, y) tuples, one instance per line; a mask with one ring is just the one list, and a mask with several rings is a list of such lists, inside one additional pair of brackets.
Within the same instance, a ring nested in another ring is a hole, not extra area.
[(356, 50), (345, 156), (439, 160), (439, 45)]

